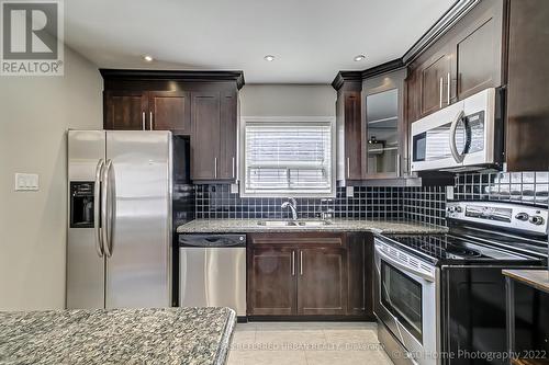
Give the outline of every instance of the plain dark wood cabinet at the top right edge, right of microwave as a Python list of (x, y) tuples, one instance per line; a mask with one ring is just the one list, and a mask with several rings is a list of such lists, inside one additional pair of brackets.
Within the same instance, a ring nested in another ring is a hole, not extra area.
[(549, 169), (549, 1), (508, 7), (508, 171)]

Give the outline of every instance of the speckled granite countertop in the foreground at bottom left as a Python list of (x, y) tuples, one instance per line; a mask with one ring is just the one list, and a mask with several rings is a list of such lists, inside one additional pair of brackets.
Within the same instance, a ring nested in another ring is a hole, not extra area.
[(0, 364), (226, 363), (229, 308), (0, 312)]

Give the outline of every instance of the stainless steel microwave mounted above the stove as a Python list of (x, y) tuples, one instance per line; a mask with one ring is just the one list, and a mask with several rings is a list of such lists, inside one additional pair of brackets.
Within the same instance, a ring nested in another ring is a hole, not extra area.
[(503, 90), (485, 89), (412, 123), (412, 171), (498, 168)]

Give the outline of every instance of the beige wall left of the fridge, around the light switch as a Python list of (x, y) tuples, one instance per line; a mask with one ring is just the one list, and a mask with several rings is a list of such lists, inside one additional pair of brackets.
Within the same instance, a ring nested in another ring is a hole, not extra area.
[[(63, 308), (67, 128), (102, 128), (102, 78), (66, 48), (64, 77), (0, 77), (0, 310)], [(15, 192), (14, 173), (40, 174)]]

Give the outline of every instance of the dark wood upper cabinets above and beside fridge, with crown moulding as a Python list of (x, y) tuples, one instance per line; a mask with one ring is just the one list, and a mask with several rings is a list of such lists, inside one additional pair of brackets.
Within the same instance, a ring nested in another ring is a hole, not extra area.
[(189, 135), (191, 179), (237, 180), (242, 71), (101, 69), (104, 128)]

